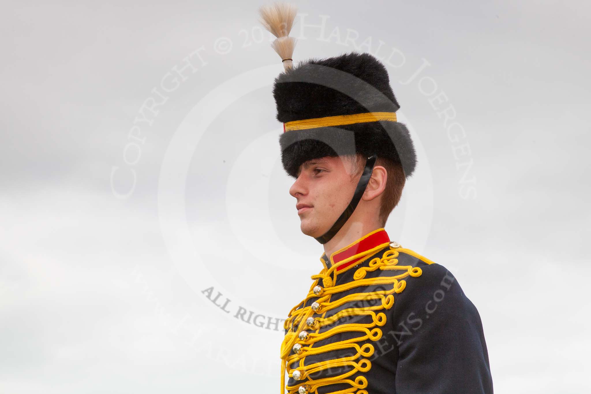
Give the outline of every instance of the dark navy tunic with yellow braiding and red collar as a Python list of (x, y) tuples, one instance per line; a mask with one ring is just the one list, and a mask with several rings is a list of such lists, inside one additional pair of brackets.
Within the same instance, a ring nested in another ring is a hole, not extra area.
[(285, 321), (288, 393), (493, 392), (480, 315), (444, 266), (384, 229), (321, 261)]

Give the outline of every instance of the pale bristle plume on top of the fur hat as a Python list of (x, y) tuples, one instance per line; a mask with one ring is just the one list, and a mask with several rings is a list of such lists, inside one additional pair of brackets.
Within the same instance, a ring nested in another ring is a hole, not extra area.
[(296, 38), (290, 37), (291, 27), (296, 19), (297, 9), (288, 3), (275, 3), (259, 8), (261, 24), (277, 37), (271, 47), (281, 56), (285, 70), (291, 69)]

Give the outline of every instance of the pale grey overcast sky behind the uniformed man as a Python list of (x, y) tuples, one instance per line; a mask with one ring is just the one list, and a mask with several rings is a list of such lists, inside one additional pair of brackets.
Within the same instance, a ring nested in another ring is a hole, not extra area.
[[(262, 4), (4, 6), (1, 392), (276, 390), (281, 332), (235, 314), (285, 317), (322, 248)], [(495, 390), (589, 392), (589, 2), (294, 4), (296, 62), (389, 59), (419, 165), (386, 229), (476, 305)]]

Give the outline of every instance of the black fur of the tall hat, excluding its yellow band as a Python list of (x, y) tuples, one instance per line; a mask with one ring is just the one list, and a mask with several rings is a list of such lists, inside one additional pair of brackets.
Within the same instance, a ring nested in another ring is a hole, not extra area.
[[(275, 78), (273, 96), (283, 123), (400, 108), (388, 71), (369, 53), (300, 61)], [(282, 133), (280, 146), (283, 168), (292, 177), (303, 162), (326, 156), (376, 154), (400, 163), (406, 177), (417, 162), (407, 127), (392, 121), (291, 130)]]

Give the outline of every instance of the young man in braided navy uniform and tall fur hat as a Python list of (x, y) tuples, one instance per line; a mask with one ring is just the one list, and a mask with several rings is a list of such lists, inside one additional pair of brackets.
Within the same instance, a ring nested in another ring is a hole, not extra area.
[(301, 231), (324, 246), (285, 320), (280, 392), (492, 393), (476, 307), (384, 229), (417, 161), (384, 65), (353, 52), (294, 67), (294, 9), (262, 15), (285, 67), (273, 86), (282, 165)]

